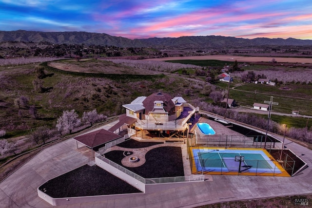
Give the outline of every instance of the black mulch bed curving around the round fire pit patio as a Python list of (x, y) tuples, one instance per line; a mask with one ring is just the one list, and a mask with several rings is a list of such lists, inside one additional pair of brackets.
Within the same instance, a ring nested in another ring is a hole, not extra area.
[[(105, 157), (120, 166), (123, 151), (110, 151)], [(128, 168), (143, 178), (184, 176), (182, 152), (179, 147), (159, 147), (146, 153), (146, 162), (137, 168)]]

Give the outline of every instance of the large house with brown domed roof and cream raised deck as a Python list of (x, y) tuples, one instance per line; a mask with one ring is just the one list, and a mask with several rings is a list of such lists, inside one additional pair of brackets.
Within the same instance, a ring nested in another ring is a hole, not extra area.
[(185, 132), (196, 112), (183, 97), (165, 93), (139, 96), (122, 106), (126, 109), (126, 117), (136, 119), (129, 127), (143, 131)]

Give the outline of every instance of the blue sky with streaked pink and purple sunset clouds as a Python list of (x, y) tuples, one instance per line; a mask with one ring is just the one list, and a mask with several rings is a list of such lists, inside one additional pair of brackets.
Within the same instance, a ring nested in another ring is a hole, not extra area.
[(0, 30), (312, 39), (312, 0), (0, 0)]

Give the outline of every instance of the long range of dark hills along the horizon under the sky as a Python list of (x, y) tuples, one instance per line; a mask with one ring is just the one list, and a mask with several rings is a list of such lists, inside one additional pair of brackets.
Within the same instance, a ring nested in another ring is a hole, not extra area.
[(104, 33), (88, 32), (35, 32), (0, 31), (0, 41), (75, 43), (86, 45), (112, 45), (117, 47), (153, 47), (153, 48), (229, 48), (263, 45), (308, 46), (312, 40), (282, 38), (234, 38), (223, 36), (190, 36), (179, 38), (128, 39), (110, 36)]

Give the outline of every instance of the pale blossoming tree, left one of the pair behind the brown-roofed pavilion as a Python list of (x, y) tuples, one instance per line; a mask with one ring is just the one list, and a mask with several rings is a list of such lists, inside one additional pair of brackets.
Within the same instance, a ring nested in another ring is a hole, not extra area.
[(75, 110), (71, 111), (63, 111), (63, 114), (59, 116), (57, 120), (56, 128), (58, 129), (59, 133), (61, 132), (69, 132), (72, 133), (72, 130), (81, 124), (81, 119), (78, 118), (78, 114)]

